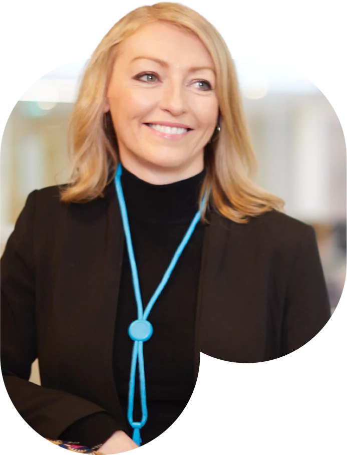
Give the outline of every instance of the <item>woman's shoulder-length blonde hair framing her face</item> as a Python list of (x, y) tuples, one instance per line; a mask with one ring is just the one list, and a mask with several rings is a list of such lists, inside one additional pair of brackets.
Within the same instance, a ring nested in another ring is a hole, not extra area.
[[(105, 197), (104, 190), (116, 175), (119, 163), (117, 137), (108, 113), (104, 121), (104, 100), (119, 43), (144, 24), (168, 21), (200, 38), (216, 68), (220, 132), (206, 144), (206, 174), (201, 185), (201, 221), (208, 224), (209, 202), (215, 210), (237, 223), (249, 217), (283, 209), (284, 200), (256, 186), (257, 173), (246, 118), (231, 52), (220, 32), (202, 14), (180, 2), (158, 2), (134, 8), (103, 37), (86, 67), (68, 125), (69, 156), (73, 154), (70, 182), (58, 185), (62, 202), (89, 202)], [(205, 189), (210, 197), (202, 206)]]

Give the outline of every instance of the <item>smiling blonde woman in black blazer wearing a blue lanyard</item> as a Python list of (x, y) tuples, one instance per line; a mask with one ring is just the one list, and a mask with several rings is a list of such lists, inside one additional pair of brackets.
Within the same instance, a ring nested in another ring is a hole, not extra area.
[(70, 127), (71, 182), (29, 194), (0, 261), (1, 366), (37, 433), (109, 455), (184, 415), (201, 357), (282, 360), (330, 308), (312, 226), (248, 176), (231, 54), (202, 15), (122, 17)]

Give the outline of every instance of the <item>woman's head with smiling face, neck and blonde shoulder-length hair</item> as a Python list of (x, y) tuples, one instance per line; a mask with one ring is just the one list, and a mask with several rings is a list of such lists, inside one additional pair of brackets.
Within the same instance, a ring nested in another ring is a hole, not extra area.
[(203, 223), (210, 206), (241, 224), (284, 212), (280, 197), (253, 182), (257, 160), (228, 45), (182, 3), (139, 6), (109, 30), (90, 57), (69, 137), (73, 172), (60, 185), (62, 202), (103, 198), (121, 160), (154, 184), (204, 168)]

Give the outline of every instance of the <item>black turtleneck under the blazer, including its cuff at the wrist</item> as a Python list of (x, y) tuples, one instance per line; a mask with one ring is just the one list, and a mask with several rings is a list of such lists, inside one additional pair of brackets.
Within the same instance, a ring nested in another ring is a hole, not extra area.
[[(205, 169), (197, 175), (165, 185), (148, 183), (122, 167), (121, 183), (127, 208), (143, 309), (159, 286), (173, 255), (199, 206)], [(203, 241), (199, 222), (148, 320), (152, 337), (144, 343), (148, 418), (140, 430), (143, 443), (164, 436), (184, 415), (194, 396), (194, 328)], [(128, 422), (128, 393), (133, 341), (129, 324), (137, 319), (137, 305), (126, 241), (114, 334), (113, 370), (127, 426), (106, 411), (84, 417), (60, 435), (92, 447), (104, 443), (118, 429), (132, 437)], [(140, 383), (136, 371), (133, 420), (141, 421)]]

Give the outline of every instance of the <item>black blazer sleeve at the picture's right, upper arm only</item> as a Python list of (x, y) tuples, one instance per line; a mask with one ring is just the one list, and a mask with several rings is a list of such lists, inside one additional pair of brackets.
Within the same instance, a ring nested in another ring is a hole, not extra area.
[(285, 298), (283, 355), (312, 344), (328, 327), (331, 309), (313, 226), (306, 224), (299, 242)]

